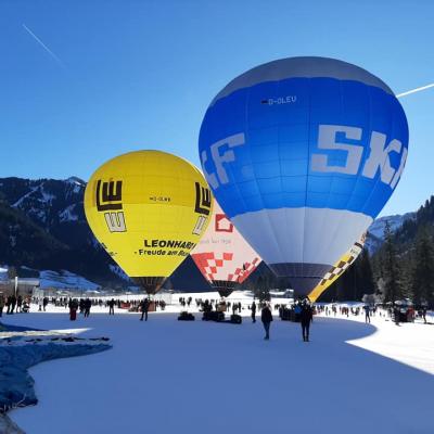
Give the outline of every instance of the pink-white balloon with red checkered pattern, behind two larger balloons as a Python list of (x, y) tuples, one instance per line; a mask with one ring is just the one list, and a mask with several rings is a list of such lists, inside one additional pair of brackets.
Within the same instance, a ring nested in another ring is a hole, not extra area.
[(230, 295), (261, 261), (216, 201), (208, 229), (191, 252), (191, 257), (222, 297)]

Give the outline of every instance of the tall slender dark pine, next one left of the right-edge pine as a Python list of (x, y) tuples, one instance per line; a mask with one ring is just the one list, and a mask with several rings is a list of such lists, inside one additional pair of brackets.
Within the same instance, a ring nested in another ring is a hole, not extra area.
[(398, 255), (393, 240), (391, 226), (384, 228), (384, 251), (382, 255), (382, 277), (384, 279), (384, 301), (396, 302), (403, 296)]

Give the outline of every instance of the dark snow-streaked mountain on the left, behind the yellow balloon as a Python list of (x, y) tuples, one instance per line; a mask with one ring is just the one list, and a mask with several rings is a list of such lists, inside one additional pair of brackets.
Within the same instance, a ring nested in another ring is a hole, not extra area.
[[(101, 248), (86, 220), (86, 182), (66, 180), (0, 178), (0, 265), (18, 268), (20, 276), (62, 284), (84, 282), (126, 288), (129, 278)], [(34, 270), (34, 272), (29, 272)], [(67, 277), (67, 279), (63, 279)], [(91, 286), (91, 283), (86, 284)], [(176, 270), (168, 288), (209, 290), (208, 283), (188, 258)]]

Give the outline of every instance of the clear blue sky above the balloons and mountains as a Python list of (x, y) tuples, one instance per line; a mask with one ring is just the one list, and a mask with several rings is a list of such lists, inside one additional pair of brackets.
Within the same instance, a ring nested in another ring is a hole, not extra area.
[[(215, 94), (258, 64), (323, 55), (396, 93), (434, 82), (434, 1), (0, 0), (0, 177), (88, 180), (159, 149), (200, 165)], [(382, 215), (434, 194), (434, 88), (401, 99), (407, 167)]]

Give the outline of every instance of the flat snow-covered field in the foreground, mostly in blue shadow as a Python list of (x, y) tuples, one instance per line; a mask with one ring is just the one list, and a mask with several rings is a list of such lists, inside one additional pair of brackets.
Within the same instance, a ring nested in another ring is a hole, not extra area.
[(113, 344), (30, 369), (39, 404), (10, 413), (28, 434), (434, 433), (434, 326), (319, 316), (304, 343), (275, 312), (267, 342), (248, 317), (181, 322), (175, 306), (141, 322), (101, 310), (2, 318)]

